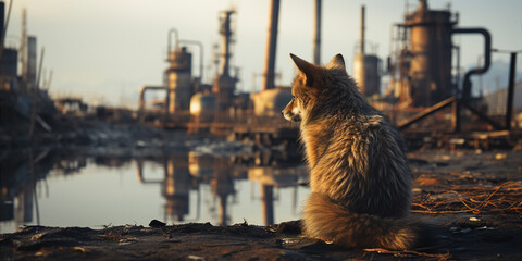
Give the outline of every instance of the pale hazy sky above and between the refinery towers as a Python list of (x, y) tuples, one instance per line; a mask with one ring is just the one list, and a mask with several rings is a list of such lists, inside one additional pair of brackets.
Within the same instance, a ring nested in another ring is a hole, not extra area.
[[(5, 1), (9, 3), (9, 1)], [(410, 11), (418, 1), (408, 1)], [(277, 39), (276, 84), (288, 85), (294, 65), (288, 53), (312, 58), (312, 18), (314, 0), (282, 0)], [(327, 63), (343, 53), (351, 73), (355, 44), (359, 37), (360, 7), (366, 7), (368, 41), (378, 46), (385, 60), (389, 54), (390, 27), (402, 22), (403, 0), (323, 0), (321, 60)], [(520, 0), (431, 0), (432, 9), (450, 4), (459, 12), (459, 27), (485, 27), (498, 49), (522, 49), (522, 1)], [(234, 8), (235, 45), (233, 65), (240, 67), (240, 90), (251, 90), (263, 70), (270, 0), (13, 0), (7, 42), (20, 44), (22, 9), (27, 9), (28, 34), (45, 47), (46, 69), (52, 69), (51, 94), (83, 96), (89, 102), (110, 102), (136, 107), (142, 85), (161, 85), (166, 69), (166, 38), (172, 27), (181, 39), (204, 45), (206, 82), (214, 69), (212, 45), (219, 42), (219, 14)], [(457, 36), (462, 65), (476, 64), (482, 38)], [(194, 54), (194, 74), (198, 75), (199, 51)], [(518, 64), (522, 66), (522, 54)], [(508, 54), (494, 54), (493, 61), (509, 62)], [(507, 78), (505, 75), (495, 77)], [(520, 79), (520, 75), (518, 75)], [(490, 80), (486, 82), (489, 85)]]

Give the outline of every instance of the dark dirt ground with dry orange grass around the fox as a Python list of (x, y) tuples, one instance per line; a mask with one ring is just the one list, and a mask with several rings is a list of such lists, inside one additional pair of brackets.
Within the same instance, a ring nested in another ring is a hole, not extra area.
[(434, 225), (426, 249), (341, 249), (299, 222), (150, 227), (27, 226), (0, 235), (1, 260), (522, 260), (522, 152), (410, 153), (412, 215)]

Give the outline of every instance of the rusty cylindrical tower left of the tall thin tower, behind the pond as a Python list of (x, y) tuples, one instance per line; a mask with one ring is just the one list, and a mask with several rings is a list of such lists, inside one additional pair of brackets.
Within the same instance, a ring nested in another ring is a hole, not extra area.
[(187, 112), (192, 96), (192, 54), (185, 47), (176, 48), (170, 52), (169, 62), (165, 71), (169, 112)]

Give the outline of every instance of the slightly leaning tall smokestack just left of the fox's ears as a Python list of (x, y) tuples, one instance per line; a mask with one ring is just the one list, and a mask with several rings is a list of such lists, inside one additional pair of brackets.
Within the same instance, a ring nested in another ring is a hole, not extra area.
[(266, 39), (266, 55), (262, 90), (273, 89), (275, 71), (275, 48), (277, 42), (277, 23), (279, 16), (279, 0), (272, 0), (270, 7), (269, 36)]

